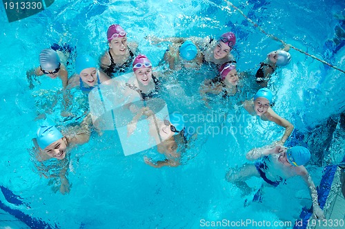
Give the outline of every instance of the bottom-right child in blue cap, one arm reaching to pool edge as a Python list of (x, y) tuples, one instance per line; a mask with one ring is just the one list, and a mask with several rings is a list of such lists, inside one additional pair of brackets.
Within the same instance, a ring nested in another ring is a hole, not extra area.
[(249, 151), (246, 158), (250, 161), (257, 161), (255, 164), (244, 164), (239, 169), (230, 169), (226, 173), (228, 182), (248, 189), (246, 180), (250, 177), (262, 177), (266, 183), (278, 186), (290, 177), (300, 176), (310, 190), (313, 201), (313, 215), (317, 219), (324, 219), (324, 212), (317, 201), (315, 184), (304, 167), (304, 164), (311, 158), (311, 152), (308, 149), (302, 146), (294, 146), (290, 149), (281, 145), (273, 148), (264, 146)]

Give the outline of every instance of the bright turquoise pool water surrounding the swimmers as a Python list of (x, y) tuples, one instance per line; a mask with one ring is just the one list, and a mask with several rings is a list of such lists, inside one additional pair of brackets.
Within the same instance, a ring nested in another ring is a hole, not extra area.
[[(333, 53), (332, 46), (325, 45), (335, 37), (339, 17), (344, 20), (341, 13), (344, 13), (344, 3), (233, 3), (266, 32), (345, 68), (344, 47)], [(209, 114), (210, 120), (206, 122), (213, 127), (219, 127), (221, 122), (215, 117), (227, 111), (240, 118), (233, 120), (228, 116), (224, 124), (238, 131), (201, 134), (195, 148), (188, 152), (191, 159), (183, 166), (151, 168), (143, 162), (145, 153), (125, 157), (115, 136), (107, 132), (102, 136), (92, 135), (88, 144), (72, 151), (69, 195), (52, 192), (48, 180), (35, 172), (28, 149), (32, 147), (31, 139), (38, 124), (43, 122), (34, 120), (37, 107), (44, 106), (37, 102), (39, 96), (48, 94), (51, 98), (49, 91), (56, 91), (49, 79), (41, 79), (41, 85), (34, 91), (28, 89), (26, 71), (38, 65), (40, 50), (55, 42), (69, 43), (77, 46), (78, 53), (99, 56), (106, 49), (104, 38), (108, 25), (120, 23), (129, 39), (137, 41), (141, 52), (157, 65), (167, 44), (150, 45), (144, 39), (149, 34), (217, 37), (231, 30), (237, 35), (235, 56), (239, 71), (253, 73), (264, 56), (281, 44), (253, 28), (239, 12), (226, 7), (224, 1), (57, 1), (43, 12), (13, 23), (7, 22), (1, 6), (0, 20), (3, 69), (0, 182), (23, 202), (14, 204), (0, 193), (1, 202), (9, 208), (40, 219), (52, 228), (199, 228), (203, 219), (204, 222), (222, 219), (294, 221), (303, 206), (310, 206), (307, 187), (296, 179), (282, 188), (268, 190), (264, 204), (244, 207), (244, 199), (253, 198), (253, 193), (242, 198), (238, 188), (224, 180), (226, 170), (245, 163), (245, 153), (254, 146), (280, 138), (283, 129), (244, 115), (244, 109), (233, 101), (226, 101), (228, 106), (216, 102), (213, 111), (202, 108), (198, 95), (193, 92), (196, 85), (182, 85), (186, 97), (175, 101), (170, 96), (167, 104), (186, 112), (188, 117)], [(299, 133), (312, 135), (315, 127), (344, 112), (344, 74), (295, 50), (290, 53), (293, 61), (273, 77), (274, 109), (293, 122)], [(189, 80), (186, 81), (194, 82), (193, 77), (202, 78), (202, 74), (186, 74)], [(241, 96), (253, 96), (253, 91), (244, 91)], [(49, 118), (58, 124), (65, 121), (57, 117), (55, 110)], [(203, 125), (204, 120), (193, 124)], [(245, 133), (239, 133), (240, 125)], [(270, 133), (262, 139), (264, 128)], [(331, 153), (336, 154), (334, 151)], [(146, 153), (155, 154), (154, 151)], [(322, 148), (315, 151), (315, 156), (320, 157), (319, 154)], [(319, 184), (325, 162), (312, 162), (308, 169), (315, 184)], [(301, 183), (304, 188), (297, 189), (295, 183)], [(253, 180), (250, 184), (259, 188), (262, 182)], [(289, 199), (288, 204), (286, 199)], [(282, 211), (288, 213), (282, 214)]]

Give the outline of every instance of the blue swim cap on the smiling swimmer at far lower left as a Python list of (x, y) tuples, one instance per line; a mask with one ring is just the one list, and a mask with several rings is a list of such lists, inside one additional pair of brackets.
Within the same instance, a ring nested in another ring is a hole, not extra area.
[(54, 126), (41, 126), (37, 131), (37, 143), (41, 149), (46, 149), (47, 146), (63, 138), (62, 133)]

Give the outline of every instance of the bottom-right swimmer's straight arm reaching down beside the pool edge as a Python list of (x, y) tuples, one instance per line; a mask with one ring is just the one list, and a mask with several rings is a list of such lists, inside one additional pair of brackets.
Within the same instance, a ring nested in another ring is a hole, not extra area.
[(306, 185), (308, 186), (311, 192), (311, 199), (313, 200), (313, 214), (315, 215), (315, 217), (317, 217), (317, 219), (325, 219), (324, 211), (320, 208), (319, 203), (317, 201), (317, 190), (313, 182), (313, 179), (311, 179), (311, 175), (309, 175), (308, 171), (304, 166), (298, 167), (297, 175), (300, 175), (304, 179), (304, 182), (306, 182)]

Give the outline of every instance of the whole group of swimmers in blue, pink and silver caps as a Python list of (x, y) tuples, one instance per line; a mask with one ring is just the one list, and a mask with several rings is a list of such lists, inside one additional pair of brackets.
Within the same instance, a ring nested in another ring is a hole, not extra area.
[[(164, 54), (164, 63), (168, 65), (166, 72), (157, 72), (153, 69), (151, 61), (144, 54), (139, 54), (137, 43), (130, 43), (127, 40), (126, 31), (120, 25), (110, 25), (107, 32), (109, 49), (100, 57), (99, 63), (88, 54), (78, 55), (75, 59), (75, 75), (68, 78), (66, 66), (61, 63), (58, 53), (45, 49), (39, 54), (40, 66), (28, 73), (30, 88), (32, 87), (32, 75), (42, 76), (43, 74), (62, 82), (63, 91), (73, 87), (79, 87), (81, 91), (88, 94), (92, 89), (101, 84), (107, 84), (109, 80), (120, 74), (131, 74), (124, 84), (126, 97), (137, 96), (139, 100), (148, 101), (159, 96), (160, 80), (163, 75), (171, 74), (180, 69), (199, 69), (204, 63), (217, 68), (219, 75), (212, 80), (205, 80), (200, 85), (200, 94), (204, 98), (206, 94), (221, 94), (228, 98), (237, 93), (239, 76), (236, 69), (236, 61), (230, 54), (236, 43), (233, 32), (222, 34), (219, 39), (200, 39), (197, 37), (167, 39), (149, 36), (151, 43), (170, 42), (171, 45)], [(246, 100), (243, 105), (246, 111), (253, 116), (259, 116), (262, 120), (272, 121), (285, 128), (281, 140), (270, 146), (253, 149), (247, 153), (248, 160), (256, 160), (255, 164), (244, 164), (242, 168), (231, 168), (226, 173), (226, 180), (237, 184), (243, 190), (248, 189), (246, 179), (249, 177), (262, 177), (266, 183), (277, 186), (284, 179), (296, 175), (301, 176), (311, 190), (313, 199), (313, 212), (319, 219), (324, 218), (324, 213), (317, 203), (317, 192), (313, 181), (306, 171), (304, 164), (311, 157), (310, 151), (302, 146), (294, 146), (290, 149), (284, 147), (284, 143), (292, 133), (293, 124), (280, 117), (273, 111), (271, 104), (273, 94), (266, 88), (268, 80), (275, 69), (287, 65), (290, 62), (289, 47), (286, 45), (283, 50), (270, 52), (266, 61), (260, 63), (255, 75), (257, 84), (262, 87), (257, 91), (254, 98)], [(99, 67), (98, 67), (99, 66)], [(66, 104), (68, 104), (66, 102)], [(137, 121), (141, 116), (152, 118), (155, 123), (150, 124), (153, 131), (157, 131), (157, 150), (164, 153), (166, 160), (152, 162), (145, 157), (146, 164), (154, 167), (179, 166), (179, 153), (177, 152), (179, 142), (186, 143), (191, 133), (186, 129), (184, 119), (178, 113), (172, 113), (168, 118), (160, 120), (155, 118), (149, 107), (141, 109), (130, 109), (134, 118), (128, 123), (128, 135), (135, 131)], [(68, 149), (77, 144), (88, 142), (90, 138), (90, 127), (92, 126), (92, 114), (89, 114), (81, 122), (80, 127), (73, 133), (61, 133), (54, 126), (41, 126), (37, 131), (34, 144), (37, 149), (37, 160), (44, 162), (52, 158), (66, 160)], [(155, 127), (155, 128), (153, 128)], [(61, 178), (61, 193), (69, 192), (65, 164), (59, 173)]]

